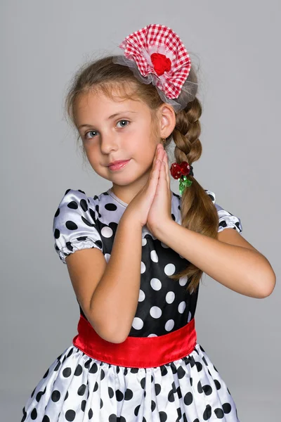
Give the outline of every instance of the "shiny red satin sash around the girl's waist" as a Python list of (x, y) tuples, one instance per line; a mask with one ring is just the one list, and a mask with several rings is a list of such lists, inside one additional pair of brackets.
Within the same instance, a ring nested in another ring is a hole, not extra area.
[(157, 337), (127, 337), (122, 343), (111, 343), (96, 333), (80, 314), (78, 334), (72, 343), (93, 359), (130, 368), (151, 368), (181, 359), (197, 343), (195, 319), (182, 328)]

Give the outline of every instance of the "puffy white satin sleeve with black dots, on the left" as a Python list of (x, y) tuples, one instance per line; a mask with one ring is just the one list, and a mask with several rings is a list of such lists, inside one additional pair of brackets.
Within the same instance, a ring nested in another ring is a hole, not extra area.
[(86, 193), (67, 189), (53, 217), (54, 247), (60, 260), (76, 250), (98, 248), (103, 251), (96, 225), (96, 211)]

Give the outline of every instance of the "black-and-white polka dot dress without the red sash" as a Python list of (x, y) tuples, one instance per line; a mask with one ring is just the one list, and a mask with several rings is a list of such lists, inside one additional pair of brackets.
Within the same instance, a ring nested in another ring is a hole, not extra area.
[[(216, 204), (218, 231), (242, 231), (238, 217)], [(119, 219), (127, 204), (108, 189), (87, 197), (65, 192), (53, 219), (60, 260), (76, 250), (99, 248), (110, 259)], [(181, 196), (172, 193), (171, 216), (181, 224)], [(195, 317), (198, 289), (169, 275), (188, 264), (167, 245), (142, 232), (141, 286), (129, 336), (165, 335)], [(81, 314), (84, 315), (81, 307)], [(187, 356), (162, 366), (131, 368), (93, 359), (73, 344), (49, 366), (22, 409), (23, 421), (40, 422), (239, 422), (233, 397), (200, 344)]]

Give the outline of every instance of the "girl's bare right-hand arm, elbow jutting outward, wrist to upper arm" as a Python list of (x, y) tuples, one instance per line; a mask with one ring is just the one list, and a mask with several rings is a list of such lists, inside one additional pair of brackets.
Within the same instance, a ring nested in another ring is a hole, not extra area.
[(237, 231), (223, 231), (218, 233), (220, 241), (171, 220), (155, 236), (223, 286), (252, 298), (270, 295), (276, 279), (266, 257)]

